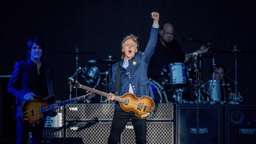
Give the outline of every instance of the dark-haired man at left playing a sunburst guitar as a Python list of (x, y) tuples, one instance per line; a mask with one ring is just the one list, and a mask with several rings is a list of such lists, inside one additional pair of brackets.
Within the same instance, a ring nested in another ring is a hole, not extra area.
[[(30, 127), (26, 126), (20, 118), (20, 104), (23, 100), (33, 101), (33, 96), (48, 96), (54, 94), (50, 68), (41, 62), (45, 51), (42, 39), (31, 38), (27, 44), (28, 59), (17, 61), (13, 68), (7, 91), (16, 97), (17, 111), (17, 144), (27, 144)], [(44, 97), (42, 97), (44, 98)], [(54, 104), (54, 108), (59, 106)], [(44, 121), (45, 122), (45, 121)], [(45, 124), (31, 128), (32, 144), (40, 144)]]

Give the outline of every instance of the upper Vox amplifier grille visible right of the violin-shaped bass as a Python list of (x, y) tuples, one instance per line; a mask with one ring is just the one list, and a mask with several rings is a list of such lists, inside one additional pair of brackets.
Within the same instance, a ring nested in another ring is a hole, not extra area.
[(147, 120), (173, 120), (173, 103), (156, 103), (153, 116)]

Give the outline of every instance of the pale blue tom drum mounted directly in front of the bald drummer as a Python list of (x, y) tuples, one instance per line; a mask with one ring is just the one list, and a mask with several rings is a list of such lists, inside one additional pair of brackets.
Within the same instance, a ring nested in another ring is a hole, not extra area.
[(173, 89), (186, 87), (186, 67), (184, 63), (170, 63), (166, 66), (169, 84)]

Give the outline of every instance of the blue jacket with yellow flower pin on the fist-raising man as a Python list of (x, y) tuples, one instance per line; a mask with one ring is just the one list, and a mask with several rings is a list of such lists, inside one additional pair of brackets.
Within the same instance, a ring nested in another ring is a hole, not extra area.
[[(141, 96), (150, 96), (154, 98), (150, 81), (147, 77), (148, 63), (151, 56), (154, 53), (156, 43), (158, 39), (158, 28), (151, 28), (150, 38), (144, 52), (139, 51), (133, 59), (128, 60), (128, 67), (125, 69), (122, 67), (123, 61), (115, 63), (112, 66), (111, 87), (110, 91), (115, 91), (115, 78), (117, 75), (117, 66), (121, 66), (120, 70), (120, 88), (119, 96), (129, 92), (129, 86), (132, 85), (135, 96), (141, 98)], [(115, 109), (120, 109), (120, 105), (117, 102)]]

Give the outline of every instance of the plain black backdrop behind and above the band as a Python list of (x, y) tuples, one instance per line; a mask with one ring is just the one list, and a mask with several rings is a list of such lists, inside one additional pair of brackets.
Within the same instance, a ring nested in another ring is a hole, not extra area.
[[(152, 18), (160, 13), (160, 25), (174, 26), (174, 37), (189, 37), (211, 42), (217, 51), (256, 50), (255, 2), (233, 0), (80, 0), (80, 1), (8, 1), (1, 2), (0, 74), (10, 75), (16, 61), (27, 59), (30, 37), (42, 37), (46, 43), (43, 62), (52, 68), (55, 94), (59, 100), (69, 98), (67, 79), (75, 72), (75, 55), (61, 54), (78, 47), (95, 55), (79, 55), (78, 65), (90, 59), (121, 60), (120, 45), (129, 33), (139, 36), (140, 48), (146, 45)], [(178, 39), (185, 53), (201, 44)], [(256, 53), (238, 54), (237, 81), (243, 103), (255, 103)], [(234, 54), (217, 54), (215, 63), (226, 66), (234, 76)], [(202, 61), (202, 78), (210, 79), (211, 58)], [(96, 63), (106, 71), (106, 64)], [(79, 77), (78, 81), (83, 83)], [(80, 93), (83, 90), (78, 90)], [(74, 95), (73, 95), (74, 96)]]

